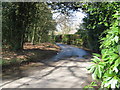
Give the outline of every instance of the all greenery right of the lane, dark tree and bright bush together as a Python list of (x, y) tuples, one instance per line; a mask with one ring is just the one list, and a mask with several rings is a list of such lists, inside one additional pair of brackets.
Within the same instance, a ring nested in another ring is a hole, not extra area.
[(101, 55), (95, 54), (89, 69), (93, 78), (102, 82), (101, 87), (119, 88), (120, 28), (113, 14), (120, 8), (120, 2), (56, 3), (54, 8), (63, 13), (82, 8), (87, 13), (85, 29), (80, 28), (77, 34), (88, 48), (101, 52)]

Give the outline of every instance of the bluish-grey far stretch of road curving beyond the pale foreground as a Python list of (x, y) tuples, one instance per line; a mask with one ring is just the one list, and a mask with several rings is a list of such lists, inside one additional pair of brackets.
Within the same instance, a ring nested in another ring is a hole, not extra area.
[(58, 53), (58, 55), (54, 56), (51, 59), (53, 61), (59, 61), (66, 57), (83, 58), (82, 56), (88, 54), (86, 51), (80, 48), (72, 47), (72, 46), (65, 45), (65, 44), (59, 44), (59, 43), (57, 43), (57, 45), (61, 48), (61, 51)]

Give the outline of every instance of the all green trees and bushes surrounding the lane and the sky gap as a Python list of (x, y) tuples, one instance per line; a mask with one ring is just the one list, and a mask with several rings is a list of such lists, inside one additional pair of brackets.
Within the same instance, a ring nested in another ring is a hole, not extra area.
[[(55, 35), (53, 13), (69, 17), (79, 9), (86, 17), (77, 32)], [(102, 88), (120, 87), (120, 2), (2, 2), (3, 52), (20, 52), (25, 43), (86, 48), (93, 55), (94, 64), (88, 68), (93, 79), (101, 82)]]

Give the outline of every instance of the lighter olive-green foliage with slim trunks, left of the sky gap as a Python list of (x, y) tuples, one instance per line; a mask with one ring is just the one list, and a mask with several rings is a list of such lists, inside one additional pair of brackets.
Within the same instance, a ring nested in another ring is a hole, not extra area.
[[(36, 3), (34, 22), (28, 27), (26, 39), (33, 44), (46, 42), (55, 31), (55, 21), (50, 8), (45, 3)], [(48, 35), (50, 34), (50, 35)]]

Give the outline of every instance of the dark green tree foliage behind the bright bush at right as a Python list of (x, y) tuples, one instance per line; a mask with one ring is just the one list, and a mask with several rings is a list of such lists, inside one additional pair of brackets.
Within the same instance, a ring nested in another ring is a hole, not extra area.
[[(83, 19), (83, 28), (78, 30), (83, 41), (94, 52), (100, 51), (99, 37), (106, 29), (109, 29), (114, 20), (112, 14), (119, 8), (119, 2), (89, 2), (82, 6), (87, 17)], [(81, 27), (81, 25), (80, 25)], [(101, 37), (104, 37), (102, 34)]]

